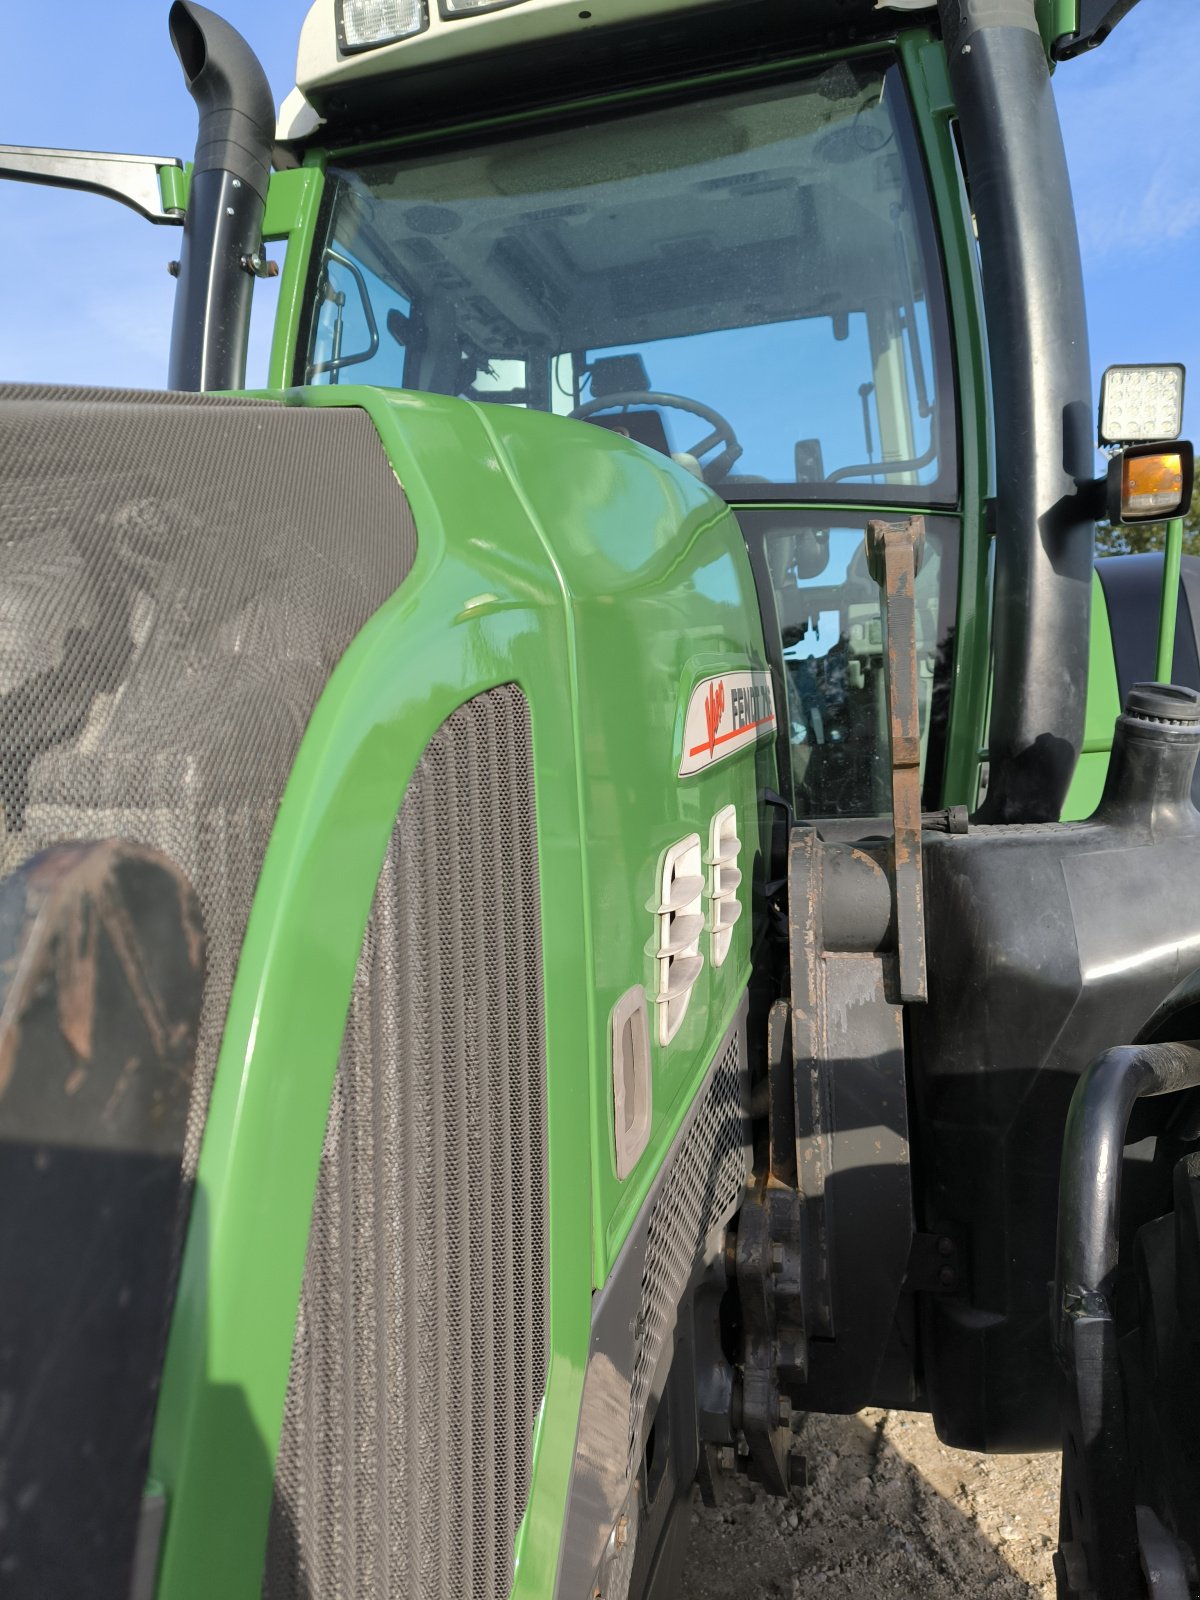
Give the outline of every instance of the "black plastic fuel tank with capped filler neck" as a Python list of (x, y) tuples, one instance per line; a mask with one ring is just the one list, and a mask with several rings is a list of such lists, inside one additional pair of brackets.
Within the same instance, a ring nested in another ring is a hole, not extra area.
[(1200, 694), (1136, 685), (1086, 822), (926, 835), (930, 1002), (909, 1008), (922, 1226), (965, 1243), (922, 1296), (938, 1434), (1058, 1448), (1048, 1328), (1059, 1150), (1088, 1062), (1200, 968)]

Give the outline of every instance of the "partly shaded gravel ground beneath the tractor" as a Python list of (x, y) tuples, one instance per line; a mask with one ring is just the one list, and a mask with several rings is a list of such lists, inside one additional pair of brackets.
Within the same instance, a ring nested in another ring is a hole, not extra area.
[(808, 1418), (797, 1504), (696, 1501), (682, 1600), (1053, 1600), (1058, 1456), (971, 1456), (926, 1416)]

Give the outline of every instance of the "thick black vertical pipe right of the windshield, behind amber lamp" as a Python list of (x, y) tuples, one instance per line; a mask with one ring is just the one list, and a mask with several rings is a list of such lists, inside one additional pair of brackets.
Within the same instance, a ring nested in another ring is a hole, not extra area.
[(938, 0), (982, 246), (997, 456), (982, 822), (1056, 821), (1083, 742), (1091, 371), (1067, 160), (1035, 0)]

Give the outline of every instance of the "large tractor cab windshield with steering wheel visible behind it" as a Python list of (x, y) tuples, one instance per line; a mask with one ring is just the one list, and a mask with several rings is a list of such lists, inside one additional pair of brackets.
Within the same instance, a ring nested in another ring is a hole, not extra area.
[(896, 67), (330, 179), (307, 382), (579, 414), (731, 498), (954, 499), (941, 269)]

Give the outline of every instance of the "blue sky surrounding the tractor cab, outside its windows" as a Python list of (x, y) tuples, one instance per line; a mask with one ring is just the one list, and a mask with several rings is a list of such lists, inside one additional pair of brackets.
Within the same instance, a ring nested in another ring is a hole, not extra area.
[[(277, 102), (294, 80), (304, 0), (211, 0), (254, 46)], [(195, 109), (166, 0), (5, 8), (0, 142), (189, 157)], [(1182, 360), (1200, 434), (1200, 5), (1141, 0), (1056, 90), (1083, 246), (1096, 378)], [(0, 187), (8, 272), (0, 379), (160, 387), (174, 229), (91, 195)], [(253, 339), (264, 360), (258, 318)], [(261, 379), (264, 368), (253, 370)]]

